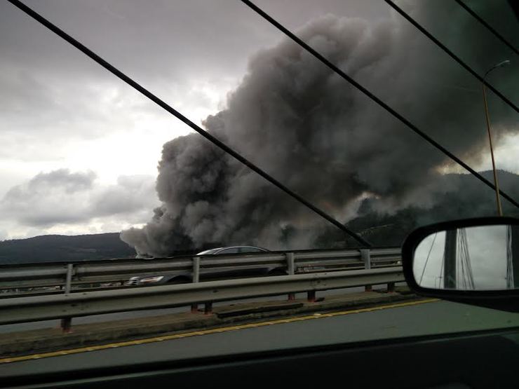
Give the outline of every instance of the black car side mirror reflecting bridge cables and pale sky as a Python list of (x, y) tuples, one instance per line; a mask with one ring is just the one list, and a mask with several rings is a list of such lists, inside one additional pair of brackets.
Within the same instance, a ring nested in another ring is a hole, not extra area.
[(487, 306), (478, 302), (519, 302), (519, 219), (485, 217), (417, 228), (403, 244), (402, 259), (407, 284), (417, 294)]

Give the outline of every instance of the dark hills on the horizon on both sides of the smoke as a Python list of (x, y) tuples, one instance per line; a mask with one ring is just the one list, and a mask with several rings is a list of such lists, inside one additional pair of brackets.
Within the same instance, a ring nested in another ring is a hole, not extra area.
[[(492, 181), (492, 172), (483, 172)], [(514, 199), (519, 199), (519, 175), (499, 172), (499, 182)], [(433, 205), (430, 207), (407, 207), (392, 214), (377, 212), (381, 205), (377, 200), (367, 199), (358, 210), (358, 216), (347, 226), (360, 233), (370, 243), (377, 246), (401, 245), (405, 236), (417, 226), (449, 219), (494, 216), (495, 197), (492, 190), (485, 187), (471, 175), (445, 175), (433, 189)], [(506, 216), (519, 217), (519, 209), (503, 199)], [(238, 243), (236, 243), (238, 244)], [(215, 245), (205, 245), (198, 250), (174, 252), (171, 255), (189, 254), (205, 250)], [(351, 238), (333, 226), (323, 229), (318, 238), (309, 243), (309, 248), (340, 248), (356, 246)], [(119, 233), (101, 233), (81, 236), (36, 236), (35, 238), (6, 240), (0, 242), (0, 264), (20, 264), (50, 261), (84, 261), (110, 258), (135, 257), (135, 250), (123, 243)]]

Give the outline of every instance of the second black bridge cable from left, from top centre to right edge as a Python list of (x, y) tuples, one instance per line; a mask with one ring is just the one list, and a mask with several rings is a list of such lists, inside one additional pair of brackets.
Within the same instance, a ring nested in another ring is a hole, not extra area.
[[(248, 7), (250, 7), (253, 11), (255, 11), (256, 13), (258, 13), (262, 18), (264, 18), (265, 20), (267, 20), (267, 22), (269, 22), (271, 25), (273, 25), (274, 27), (276, 27), (277, 29), (279, 29), (281, 32), (283, 32), (283, 34), (285, 34), (286, 36), (288, 36), (290, 39), (292, 39), (292, 41), (295, 41), (295, 43), (297, 43), (299, 46), (301, 46), (302, 48), (304, 48), (304, 50), (308, 51), (309, 53), (311, 53), (311, 55), (314, 55), (314, 57), (316, 57), (319, 61), (321, 61), (323, 64), (325, 64), (328, 68), (332, 69), (332, 71), (334, 71), (336, 74), (338, 74), (339, 76), (342, 77), (342, 79), (348, 81), (349, 83), (351, 83), (351, 85), (353, 85), (355, 88), (357, 88), (358, 90), (360, 90), (360, 92), (364, 93), (366, 96), (368, 96), (371, 100), (373, 100), (374, 102), (376, 102), (377, 104), (379, 104), (380, 107), (384, 108), (386, 111), (388, 111), (391, 115), (393, 115), (394, 117), (396, 117), (399, 121), (401, 121), (402, 123), (404, 123), (405, 125), (407, 125), (407, 127), (409, 127), (412, 131), (414, 131), (417, 135), (419, 135), (420, 137), (422, 137), (423, 139), (426, 140), (426, 142), (429, 142), (429, 144), (432, 144), (433, 146), (436, 147), (436, 149), (442, 151), (446, 156), (448, 156), (449, 158), (451, 158), (453, 161), (455, 161), (456, 163), (458, 163), (459, 165), (461, 165), (463, 168), (465, 168), (466, 170), (468, 170), (469, 172), (471, 172), (472, 175), (474, 175), (475, 177), (477, 177), (481, 182), (483, 182), (485, 185), (487, 186), (490, 186), (490, 188), (492, 188), (494, 191), (496, 190), (494, 184), (492, 184), (492, 182), (488, 181), (487, 179), (485, 179), (485, 177), (483, 177), (482, 175), (480, 175), (478, 172), (476, 172), (476, 170), (473, 170), (473, 168), (471, 168), (469, 165), (467, 165), (466, 163), (464, 163), (464, 161), (461, 161), (461, 159), (459, 159), (457, 156), (455, 156), (453, 153), (451, 153), (450, 151), (448, 151), (447, 149), (445, 149), (445, 147), (443, 147), (441, 144), (439, 144), (438, 142), (436, 142), (436, 140), (434, 140), (433, 138), (429, 137), (429, 135), (427, 135), (425, 132), (423, 132), (422, 130), (419, 130), (419, 128), (417, 128), (416, 125), (412, 124), (410, 121), (407, 120), (407, 118), (405, 118), (404, 116), (398, 114), (397, 111), (395, 111), (393, 108), (389, 107), (388, 104), (386, 104), (385, 102), (383, 102), (382, 100), (379, 99), (379, 97), (373, 95), (368, 89), (364, 88), (363, 86), (360, 85), (360, 83), (358, 83), (357, 81), (353, 80), (350, 76), (348, 76), (346, 73), (344, 73), (344, 71), (342, 71), (341, 69), (339, 69), (337, 66), (335, 66), (335, 64), (332, 64), (332, 62), (330, 62), (329, 60), (327, 60), (325, 57), (323, 57), (323, 55), (319, 54), (316, 50), (314, 50), (313, 48), (311, 48), (308, 44), (306, 44), (304, 41), (302, 41), (301, 39), (299, 39), (295, 34), (293, 34), (289, 29), (287, 29), (286, 27), (284, 27), (283, 25), (281, 25), (281, 23), (279, 23), (278, 21), (276, 21), (274, 18), (272, 18), (269, 14), (265, 13), (261, 8), (259, 8), (258, 6), (256, 6), (255, 4), (252, 3), (252, 1), (250, 0), (241, 0), (243, 2), (243, 4), (247, 5)], [(499, 193), (501, 194), (501, 196), (503, 196), (504, 198), (506, 198), (506, 200), (508, 200), (510, 203), (512, 203), (513, 205), (515, 205), (515, 207), (518, 207), (519, 208), (519, 203), (517, 203), (513, 198), (511, 198), (511, 196), (508, 196), (508, 194), (506, 194), (504, 191), (501, 191), (501, 189), (499, 189)]]

